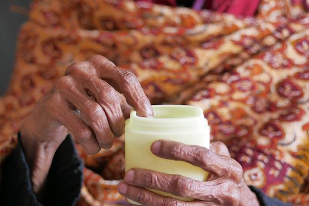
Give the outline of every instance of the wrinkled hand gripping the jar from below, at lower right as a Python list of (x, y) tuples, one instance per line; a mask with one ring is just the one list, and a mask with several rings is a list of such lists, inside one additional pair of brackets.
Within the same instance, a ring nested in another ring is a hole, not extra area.
[[(212, 142), (210, 150), (183, 143), (159, 140), (151, 151), (158, 157), (185, 161), (209, 172), (207, 181), (197, 181), (181, 175), (171, 175), (145, 169), (126, 172), (118, 191), (124, 197), (144, 206), (259, 206), (242, 177), (241, 166), (230, 157), (222, 142)], [(184, 202), (164, 197), (148, 189), (155, 189), (194, 201)]]

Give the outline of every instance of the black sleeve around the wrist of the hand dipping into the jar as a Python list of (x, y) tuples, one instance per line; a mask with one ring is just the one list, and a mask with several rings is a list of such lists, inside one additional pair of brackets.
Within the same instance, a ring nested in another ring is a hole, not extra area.
[(39, 203), (31, 189), (30, 170), (18, 134), (16, 148), (3, 163), (0, 205), (73, 206), (80, 195), (82, 169), (83, 163), (78, 157), (74, 141), (67, 136), (54, 155), (47, 176), (44, 202)]

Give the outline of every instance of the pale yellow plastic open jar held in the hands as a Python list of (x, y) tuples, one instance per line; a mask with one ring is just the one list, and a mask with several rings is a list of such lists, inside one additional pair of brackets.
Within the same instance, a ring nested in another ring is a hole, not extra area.
[[(191, 105), (165, 104), (153, 105), (153, 110), (154, 118), (137, 116), (136, 111), (132, 110), (130, 119), (125, 122), (125, 170), (144, 168), (205, 181), (208, 173), (202, 169), (186, 162), (156, 157), (150, 150), (151, 144), (159, 139), (209, 148), (209, 127), (202, 109)], [(192, 200), (155, 192), (184, 201)]]

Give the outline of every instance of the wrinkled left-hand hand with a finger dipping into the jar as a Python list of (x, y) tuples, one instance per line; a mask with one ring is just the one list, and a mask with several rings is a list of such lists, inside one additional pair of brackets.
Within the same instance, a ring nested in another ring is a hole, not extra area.
[(138, 79), (102, 56), (71, 65), (44, 94), (21, 124), (21, 138), (39, 192), (52, 157), (70, 133), (88, 154), (110, 148), (124, 132), (131, 106), (138, 115), (153, 116)]

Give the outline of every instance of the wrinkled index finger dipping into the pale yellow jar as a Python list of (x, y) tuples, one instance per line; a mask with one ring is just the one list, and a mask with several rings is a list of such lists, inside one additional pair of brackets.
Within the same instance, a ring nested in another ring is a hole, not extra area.
[(138, 116), (153, 117), (154, 112), (137, 77), (130, 71), (116, 67), (114, 63), (103, 56), (96, 55), (88, 60), (99, 78), (108, 82), (119, 93), (122, 93), (129, 104), (136, 110)]

